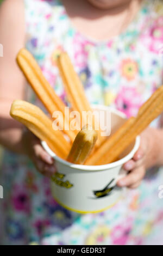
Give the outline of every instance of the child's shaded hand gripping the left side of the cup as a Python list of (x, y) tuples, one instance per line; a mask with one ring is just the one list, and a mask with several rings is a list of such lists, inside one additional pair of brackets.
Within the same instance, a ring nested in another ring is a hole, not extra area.
[(26, 154), (33, 161), (36, 169), (49, 178), (56, 172), (53, 158), (42, 148), (40, 139), (26, 130), (23, 134), (23, 145)]

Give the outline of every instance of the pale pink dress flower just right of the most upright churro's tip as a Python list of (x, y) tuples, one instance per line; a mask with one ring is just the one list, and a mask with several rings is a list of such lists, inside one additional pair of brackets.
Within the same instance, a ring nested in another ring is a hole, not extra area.
[(89, 45), (91, 46), (93, 44), (85, 40), (82, 35), (80, 35), (79, 33), (76, 33), (76, 35), (74, 35), (73, 48), (75, 65), (78, 66), (78, 68), (80, 69), (85, 68), (87, 64), (88, 50), (86, 49), (86, 47)]

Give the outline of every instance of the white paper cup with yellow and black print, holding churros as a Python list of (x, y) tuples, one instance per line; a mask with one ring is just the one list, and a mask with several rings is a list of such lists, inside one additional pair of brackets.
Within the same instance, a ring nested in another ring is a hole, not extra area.
[[(105, 106), (96, 106), (97, 109), (109, 110), (111, 133), (125, 121), (126, 117), (120, 111)], [(116, 186), (117, 180), (126, 174), (122, 165), (134, 156), (139, 144), (140, 137), (137, 136), (134, 143), (123, 152), (120, 160), (101, 166), (86, 166), (60, 159), (46, 142), (42, 142), (43, 148), (55, 159), (57, 167), (57, 174), (51, 181), (54, 199), (64, 208), (81, 214), (110, 208), (122, 196), (123, 188)]]

